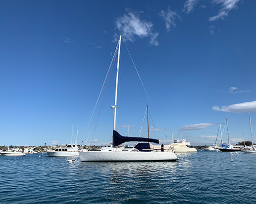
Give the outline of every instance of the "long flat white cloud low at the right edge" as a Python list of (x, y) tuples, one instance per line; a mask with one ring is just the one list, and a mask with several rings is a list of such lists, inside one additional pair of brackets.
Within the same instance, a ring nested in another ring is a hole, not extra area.
[(232, 104), (228, 106), (213, 106), (212, 110), (223, 111), (223, 112), (235, 112), (235, 113), (245, 113), (245, 112), (256, 112), (256, 101), (254, 102), (243, 102)]

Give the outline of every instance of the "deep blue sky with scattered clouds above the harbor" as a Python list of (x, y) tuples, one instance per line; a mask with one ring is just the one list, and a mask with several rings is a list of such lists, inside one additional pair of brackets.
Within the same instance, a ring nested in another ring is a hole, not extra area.
[(253, 0), (1, 0), (0, 145), (68, 143), (72, 125), (73, 141), (78, 126), (78, 143), (111, 142), (116, 60), (95, 105), (119, 30), (121, 135), (128, 126), (139, 135), (148, 104), (150, 136), (160, 143), (173, 133), (213, 144), (226, 118), (232, 144), (243, 134), (249, 140), (249, 110), (256, 131), (255, 9)]

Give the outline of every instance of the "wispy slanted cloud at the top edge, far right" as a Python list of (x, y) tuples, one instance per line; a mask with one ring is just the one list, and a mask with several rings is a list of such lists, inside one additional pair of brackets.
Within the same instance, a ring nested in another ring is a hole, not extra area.
[(224, 19), (228, 16), (230, 10), (237, 7), (239, 0), (212, 0), (213, 4), (221, 4), (221, 8), (217, 15), (210, 17), (209, 21), (215, 21), (219, 18)]

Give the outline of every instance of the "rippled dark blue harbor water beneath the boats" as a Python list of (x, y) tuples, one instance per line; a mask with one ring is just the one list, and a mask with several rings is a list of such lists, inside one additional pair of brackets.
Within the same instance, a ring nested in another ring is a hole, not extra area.
[(177, 154), (178, 162), (136, 163), (39, 155), (0, 156), (0, 203), (256, 203), (256, 154), (198, 151)]

